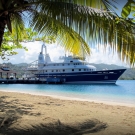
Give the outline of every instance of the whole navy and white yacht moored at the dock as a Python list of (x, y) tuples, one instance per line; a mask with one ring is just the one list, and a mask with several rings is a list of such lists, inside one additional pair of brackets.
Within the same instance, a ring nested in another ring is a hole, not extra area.
[[(45, 49), (45, 54), (43, 54)], [(45, 44), (42, 45), (38, 60), (30, 64), (27, 71), (39, 79), (49, 78), (62, 83), (115, 83), (126, 69), (100, 70), (79, 57), (64, 56), (63, 62), (52, 62)]]

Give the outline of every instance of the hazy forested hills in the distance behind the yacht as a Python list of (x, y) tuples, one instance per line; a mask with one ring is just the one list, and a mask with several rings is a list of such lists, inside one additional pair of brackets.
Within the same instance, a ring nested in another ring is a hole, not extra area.
[[(5, 64), (5, 63), (4, 63)], [(11, 70), (15, 70), (18, 73), (18, 77), (21, 77), (24, 73), (27, 63), (20, 63), (20, 64), (11, 64), (11, 63), (6, 63)], [(123, 66), (117, 66), (117, 65), (108, 65), (108, 64), (93, 64), (91, 65), (95, 66), (97, 70), (103, 70), (103, 69), (123, 69), (125, 67)], [(127, 68), (127, 70), (123, 73), (123, 75), (119, 78), (121, 80), (135, 80), (135, 68)]]

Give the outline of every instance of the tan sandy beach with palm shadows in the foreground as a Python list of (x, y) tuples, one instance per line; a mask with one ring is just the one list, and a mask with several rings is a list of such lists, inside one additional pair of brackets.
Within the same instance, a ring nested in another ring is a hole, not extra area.
[(0, 91), (0, 135), (135, 135), (135, 107)]

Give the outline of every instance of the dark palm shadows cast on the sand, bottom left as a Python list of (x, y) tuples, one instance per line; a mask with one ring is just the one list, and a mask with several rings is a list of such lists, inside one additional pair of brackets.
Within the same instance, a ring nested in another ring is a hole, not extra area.
[[(100, 122), (97, 119), (86, 120), (82, 123), (75, 123), (68, 125), (56, 120), (53, 123), (39, 123), (38, 125), (31, 125), (31, 128), (13, 128), (17, 120), (21, 119), (23, 114), (27, 115), (40, 115), (31, 114), (30, 110), (33, 106), (21, 104), (21, 107), (11, 104), (4, 100), (7, 97), (0, 97), (0, 135), (82, 135), (86, 133), (95, 133), (107, 128), (107, 124)], [(18, 102), (13, 100), (13, 102)], [(18, 103), (19, 104), (19, 103)]]

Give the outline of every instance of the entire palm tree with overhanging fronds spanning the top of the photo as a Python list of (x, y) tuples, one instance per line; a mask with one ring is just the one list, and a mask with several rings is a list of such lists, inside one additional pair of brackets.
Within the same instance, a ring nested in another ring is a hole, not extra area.
[(111, 0), (0, 0), (0, 45), (6, 25), (16, 30), (16, 39), (21, 36), (25, 15), (33, 30), (54, 36), (65, 50), (83, 55), (90, 54), (92, 44), (109, 44), (132, 64), (134, 23), (118, 17), (113, 8)]

